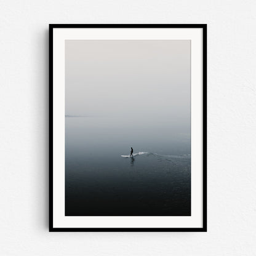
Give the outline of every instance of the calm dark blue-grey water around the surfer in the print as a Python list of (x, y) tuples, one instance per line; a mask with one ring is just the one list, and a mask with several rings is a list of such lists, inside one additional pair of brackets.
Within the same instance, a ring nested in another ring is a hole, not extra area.
[(65, 214), (190, 215), (190, 132), (162, 120), (66, 117)]

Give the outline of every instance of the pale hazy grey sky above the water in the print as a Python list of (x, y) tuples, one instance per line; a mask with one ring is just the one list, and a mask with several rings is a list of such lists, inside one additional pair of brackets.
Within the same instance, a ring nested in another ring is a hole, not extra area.
[(66, 40), (66, 114), (190, 123), (189, 40)]

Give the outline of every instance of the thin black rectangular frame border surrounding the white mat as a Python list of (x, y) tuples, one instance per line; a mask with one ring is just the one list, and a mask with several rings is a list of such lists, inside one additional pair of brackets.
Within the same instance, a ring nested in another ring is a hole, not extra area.
[[(54, 28), (202, 28), (203, 56), (203, 180), (202, 228), (54, 228), (53, 226), (53, 32)], [(206, 24), (50, 24), (49, 25), (49, 231), (188, 232), (207, 231), (207, 25)]]

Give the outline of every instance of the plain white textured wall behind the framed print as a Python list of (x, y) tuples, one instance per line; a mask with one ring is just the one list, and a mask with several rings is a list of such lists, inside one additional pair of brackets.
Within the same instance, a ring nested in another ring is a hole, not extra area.
[[(256, 2), (0, 7), (0, 255), (256, 254)], [(48, 23), (208, 24), (208, 232), (49, 233)]]

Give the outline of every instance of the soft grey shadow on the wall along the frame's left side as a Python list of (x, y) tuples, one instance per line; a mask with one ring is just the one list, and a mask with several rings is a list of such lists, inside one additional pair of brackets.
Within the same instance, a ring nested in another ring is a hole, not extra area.
[(34, 70), (38, 71), (33, 81), (36, 90), (34, 90), (34, 99), (38, 108), (38, 117), (36, 119), (37, 132), (35, 132), (34, 141), (36, 146), (41, 147), (42, 155), (38, 156), (38, 169), (34, 172), (39, 173), (34, 180), (34, 220), (44, 230), (49, 229), (49, 31), (36, 34), (34, 39)]

